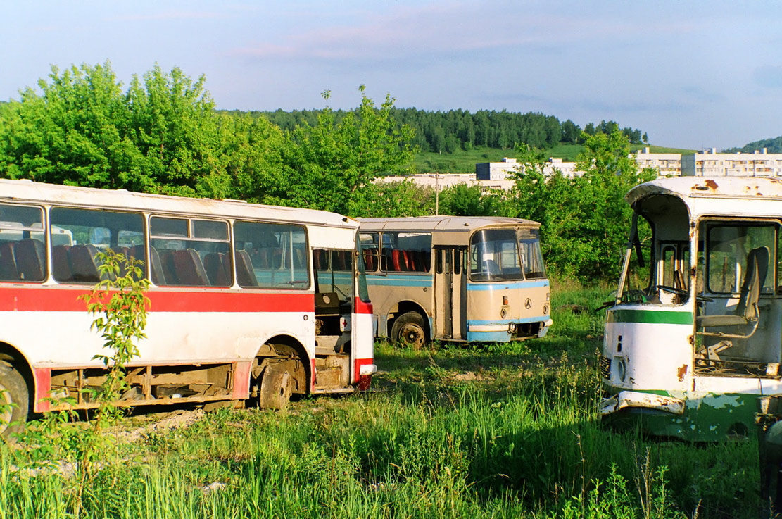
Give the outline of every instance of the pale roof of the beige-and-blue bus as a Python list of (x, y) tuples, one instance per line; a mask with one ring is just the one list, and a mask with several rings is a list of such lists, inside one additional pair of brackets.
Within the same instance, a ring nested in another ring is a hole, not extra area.
[(358, 218), (364, 230), (470, 232), (482, 227), (522, 226), (537, 229), (540, 223), (501, 216), (415, 216), (408, 218)]

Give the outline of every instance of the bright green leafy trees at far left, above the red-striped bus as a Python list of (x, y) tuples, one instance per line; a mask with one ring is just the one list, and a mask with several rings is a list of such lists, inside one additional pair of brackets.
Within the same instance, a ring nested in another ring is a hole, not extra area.
[(246, 193), (279, 167), (268, 121), (217, 114), (204, 77), (154, 67), (127, 91), (106, 62), (26, 88), (0, 112), (0, 175), (142, 193)]

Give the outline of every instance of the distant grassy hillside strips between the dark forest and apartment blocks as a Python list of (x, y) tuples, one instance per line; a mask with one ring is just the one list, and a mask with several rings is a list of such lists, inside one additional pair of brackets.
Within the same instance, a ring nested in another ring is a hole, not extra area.
[[(633, 144), (630, 150), (643, 150), (646, 145)], [(693, 150), (680, 150), (662, 146), (649, 146), (651, 153), (694, 153)], [(547, 157), (575, 162), (583, 150), (579, 144), (558, 144), (545, 150)], [(480, 162), (499, 162), (503, 157), (516, 157), (515, 150), (476, 147), (474, 150), (457, 150), (454, 153), (418, 153), (414, 165), (417, 173), (475, 173), (475, 164)]]

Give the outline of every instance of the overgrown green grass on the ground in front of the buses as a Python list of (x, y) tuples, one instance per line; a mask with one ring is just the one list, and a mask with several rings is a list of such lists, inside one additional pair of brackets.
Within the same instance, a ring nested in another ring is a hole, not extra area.
[[(755, 442), (601, 426), (589, 309), (609, 291), (555, 285), (539, 340), (380, 342), (366, 394), (130, 416), (82, 517), (759, 517)], [(0, 518), (71, 517), (63, 467), (18, 471), (0, 449)]]

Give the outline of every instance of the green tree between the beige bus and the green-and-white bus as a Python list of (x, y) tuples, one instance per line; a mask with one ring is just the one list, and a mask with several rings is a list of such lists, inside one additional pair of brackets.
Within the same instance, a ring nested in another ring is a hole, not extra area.
[(577, 163), (582, 175), (572, 178), (543, 175), (540, 152), (524, 147), (518, 152), (523, 168), (516, 177), (516, 214), (540, 222), (547, 265), (583, 279), (615, 276), (632, 215), (624, 196), (655, 171), (638, 171), (630, 142), (618, 128), (585, 135)]

